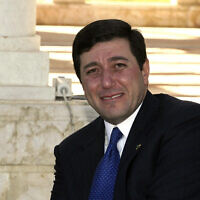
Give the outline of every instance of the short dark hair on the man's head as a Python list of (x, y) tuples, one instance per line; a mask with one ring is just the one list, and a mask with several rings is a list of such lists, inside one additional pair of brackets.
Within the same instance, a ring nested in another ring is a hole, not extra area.
[(98, 20), (81, 29), (73, 42), (74, 69), (80, 81), (80, 55), (89, 51), (96, 43), (110, 41), (113, 38), (125, 38), (129, 41), (131, 52), (142, 70), (147, 58), (142, 34), (136, 29), (131, 29), (131, 26), (122, 20)]

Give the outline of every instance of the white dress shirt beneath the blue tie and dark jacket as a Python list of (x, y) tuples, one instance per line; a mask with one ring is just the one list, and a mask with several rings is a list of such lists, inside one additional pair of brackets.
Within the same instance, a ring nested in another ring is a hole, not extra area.
[(123, 136), (121, 137), (121, 139), (118, 141), (117, 143), (117, 149), (119, 151), (119, 155), (121, 157), (126, 140), (128, 138), (130, 129), (132, 127), (132, 124), (140, 110), (142, 104), (140, 104), (140, 106), (138, 106), (138, 108), (135, 110), (135, 112), (129, 116), (126, 120), (124, 120), (123, 122), (121, 122), (120, 124), (117, 125), (113, 125), (107, 121), (104, 120), (104, 124), (105, 124), (105, 146), (104, 146), (104, 152), (106, 152), (106, 149), (108, 147), (109, 141), (110, 141), (110, 137), (111, 137), (111, 133), (114, 127), (118, 127), (119, 130), (122, 132)]

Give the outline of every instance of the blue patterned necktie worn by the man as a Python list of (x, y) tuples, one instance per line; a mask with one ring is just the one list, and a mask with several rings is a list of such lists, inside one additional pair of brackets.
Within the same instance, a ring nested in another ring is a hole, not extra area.
[(96, 168), (89, 200), (112, 200), (120, 156), (117, 142), (122, 137), (121, 131), (113, 128), (105, 155)]

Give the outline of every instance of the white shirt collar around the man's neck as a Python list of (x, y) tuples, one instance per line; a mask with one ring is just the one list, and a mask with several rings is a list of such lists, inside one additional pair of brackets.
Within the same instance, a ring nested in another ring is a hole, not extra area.
[(140, 110), (141, 105), (142, 105), (142, 103), (138, 106), (138, 108), (135, 110), (135, 112), (133, 114), (131, 114), (127, 119), (125, 119), (123, 122), (121, 122), (117, 125), (113, 125), (104, 120), (105, 131), (106, 131), (108, 141), (110, 141), (111, 132), (114, 127), (118, 127), (119, 130), (122, 132), (123, 136), (125, 136), (126, 138), (128, 137), (128, 134), (131, 130), (132, 124)]

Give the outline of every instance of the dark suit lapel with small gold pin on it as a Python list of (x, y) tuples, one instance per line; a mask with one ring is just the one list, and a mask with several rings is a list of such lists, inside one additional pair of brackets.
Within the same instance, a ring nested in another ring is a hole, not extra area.
[(125, 144), (116, 182), (115, 199), (126, 199), (126, 178), (130, 163), (145, 148), (146, 136), (154, 126), (154, 119), (159, 111), (159, 102), (147, 92), (143, 105), (132, 125)]

